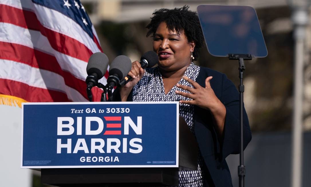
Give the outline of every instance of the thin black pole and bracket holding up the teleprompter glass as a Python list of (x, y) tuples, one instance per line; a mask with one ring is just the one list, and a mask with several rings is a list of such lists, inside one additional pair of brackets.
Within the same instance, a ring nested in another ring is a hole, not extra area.
[(239, 187), (244, 187), (245, 165), (243, 151), (243, 71), (245, 70), (244, 60), (252, 60), (252, 55), (249, 54), (228, 54), (229, 60), (239, 60), (239, 93), (240, 93), (240, 165), (238, 166)]

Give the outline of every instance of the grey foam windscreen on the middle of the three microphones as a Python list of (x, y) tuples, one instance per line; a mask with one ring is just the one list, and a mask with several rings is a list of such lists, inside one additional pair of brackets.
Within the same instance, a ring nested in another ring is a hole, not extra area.
[(132, 69), (132, 61), (125, 55), (117, 56), (112, 61), (109, 68), (109, 75), (118, 74), (118, 78), (123, 79)]

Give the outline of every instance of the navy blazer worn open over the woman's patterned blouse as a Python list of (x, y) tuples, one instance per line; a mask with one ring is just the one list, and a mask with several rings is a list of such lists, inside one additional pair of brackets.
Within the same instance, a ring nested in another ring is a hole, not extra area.
[[(193, 114), (194, 132), (206, 166), (203, 168), (205, 182), (209, 187), (228, 187), (232, 186), (232, 180), (225, 158), (230, 154), (239, 154), (239, 92), (225, 74), (205, 67), (200, 68), (196, 82), (205, 87), (205, 79), (209, 76), (213, 77), (210, 80), (211, 88), (226, 108), (222, 143), (217, 137), (210, 111), (197, 106), (195, 106)], [(132, 99), (131, 92), (128, 101), (132, 101)], [(114, 100), (121, 101), (118, 89), (114, 91)], [(243, 145), (245, 149), (251, 141), (252, 134), (244, 107), (243, 111)]]

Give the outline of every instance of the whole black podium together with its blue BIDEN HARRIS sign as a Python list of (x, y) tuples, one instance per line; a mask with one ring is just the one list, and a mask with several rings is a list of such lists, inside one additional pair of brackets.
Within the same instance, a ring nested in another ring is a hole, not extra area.
[(23, 103), (21, 168), (55, 186), (178, 186), (198, 158), (178, 116), (178, 102)]

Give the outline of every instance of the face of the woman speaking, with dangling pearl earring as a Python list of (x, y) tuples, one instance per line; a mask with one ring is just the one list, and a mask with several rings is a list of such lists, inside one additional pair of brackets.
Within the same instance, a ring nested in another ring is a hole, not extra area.
[(194, 42), (188, 42), (184, 31), (179, 34), (169, 31), (165, 22), (160, 23), (153, 38), (153, 50), (159, 56), (158, 65), (166, 71), (176, 71), (188, 66), (194, 46)]

